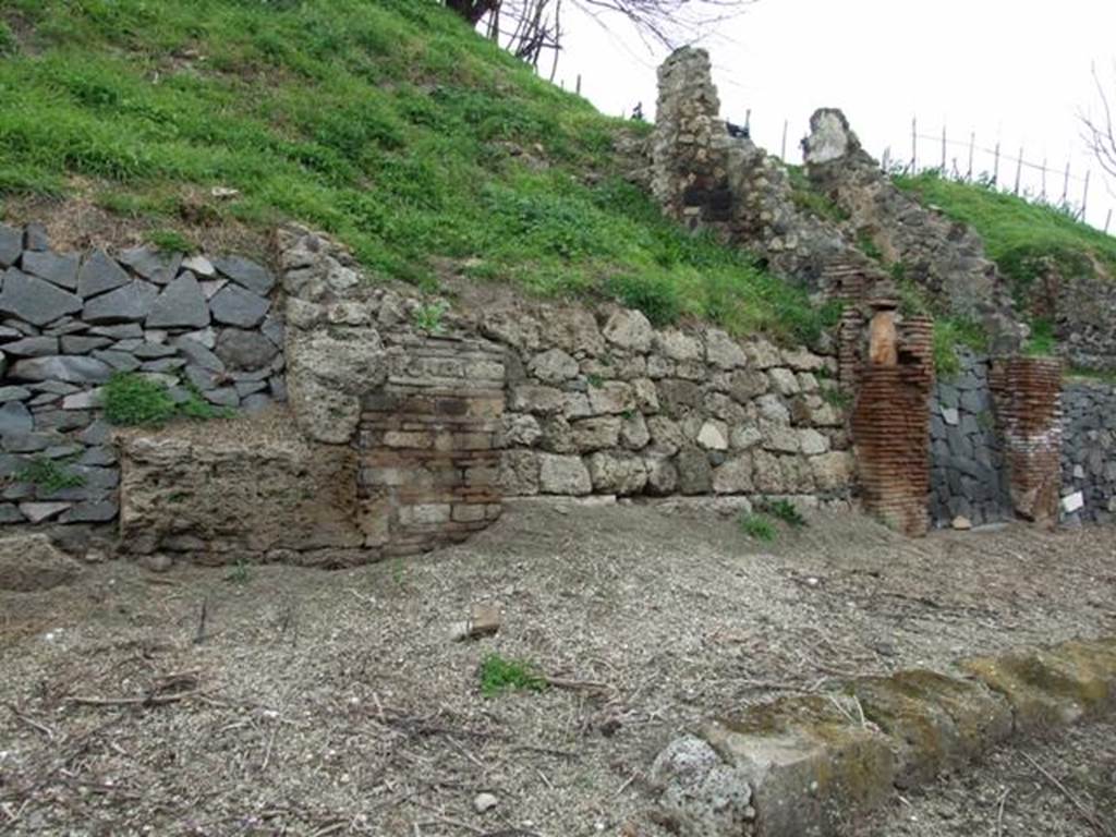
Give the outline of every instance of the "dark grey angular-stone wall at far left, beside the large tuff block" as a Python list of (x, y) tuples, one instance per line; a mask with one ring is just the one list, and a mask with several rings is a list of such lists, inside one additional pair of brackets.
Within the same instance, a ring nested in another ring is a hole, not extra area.
[(119, 468), (100, 408), (114, 373), (244, 412), (285, 398), (276, 282), (256, 262), (60, 253), (40, 228), (0, 225), (0, 522), (116, 518)]

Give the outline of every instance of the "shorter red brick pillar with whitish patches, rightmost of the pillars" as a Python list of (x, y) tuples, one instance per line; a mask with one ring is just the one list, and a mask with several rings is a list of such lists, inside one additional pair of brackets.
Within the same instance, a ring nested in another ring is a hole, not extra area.
[(1061, 360), (1002, 357), (989, 385), (1016, 514), (1054, 525), (1061, 489)]

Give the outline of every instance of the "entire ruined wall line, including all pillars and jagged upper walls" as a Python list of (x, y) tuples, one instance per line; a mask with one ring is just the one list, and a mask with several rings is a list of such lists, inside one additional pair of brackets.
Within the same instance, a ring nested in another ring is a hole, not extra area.
[[(815, 115), (806, 170), (850, 220), (817, 217), (720, 121), (704, 52), (660, 78), (645, 179), (664, 211), (841, 300), (835, 338), (779, 348), (614, 305), (450, 305), (377, 286), (294, 227), (260, 263), (58, 253), (0, 225), (0, 522), (155, 566), (339, 567), (463, 540), (509, 499), (859, 501), (911, 535), (1116, 514), (1116, 387), (1064, 389), (1057, 362), (1019, 356), (971, 232), (898, 193), (834, 110)], [(982, 317), (994, 354), (935, 381), (933, 323), (902, 312), (862, 228)], [(113, 427), (114, 373), (237, 417)], [(77, 479), (29, 480), (41, 462)]]

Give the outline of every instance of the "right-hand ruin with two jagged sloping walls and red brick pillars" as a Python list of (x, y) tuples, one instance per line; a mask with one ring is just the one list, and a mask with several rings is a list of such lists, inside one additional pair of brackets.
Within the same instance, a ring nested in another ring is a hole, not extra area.
[[(931, 523), (1110, 513), (1114, 440), (1109, 420), (1098, 414), (1107, 397), (1075, 395), (1076, 433), (1067, 433), (1061, 365), (1020, 355), (1026, 328), (972, 230), (898, 190), (835, 109), (816, 112), (804, 141), (806, 176), (846, 220), (821, 218), (796, 202), (780, 161), (728, 129), (704, 50), (674, 52), (658, 81), (645, 180), (664, 212), (758, 253), (788, 281), (844, 302), (839, 382), (855, 397), (849, 426), (866, 508), (912, 535)], [(983, 324), (990, 356), (963, 358), (956, 383), (936, 382), (933, 324), (898, 310), (893, 277), (858, 247), (865, 237), (882, 261), (902, 264), (903, 279), (939, 310)], [(1081, 338), (1078, 348), (1083, 343), (1097, 345)], [(1064, 440), (1072, 451), (1069, 464)], [(1078, 484), (1066, 498), (1064, 471)], [(1086, 496), (1093, 498), (1087, 507)]]

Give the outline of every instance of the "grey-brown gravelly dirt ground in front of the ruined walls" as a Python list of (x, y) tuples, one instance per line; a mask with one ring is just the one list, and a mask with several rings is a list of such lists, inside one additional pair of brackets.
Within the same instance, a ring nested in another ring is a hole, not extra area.
[[(643, 773), (680, 732), (846, 675), (1112, 634), (1114, 542), (910, 541), (841, 514), (768, 545), (710, 511), (527, 506), (356, 570), (93, 566), (0, 596), (0, 834), (661, 837)], [(453, 642), (473, 603), (502, 628)], [(557, 685), (485, 698), (491, 653)], [(1103, 729), (1076, 760), (1110, 779)], [(995, 835), (989, 769), (865, 834)], [(1019, 787), (1003, 834), (1087, 833), (1023, 828)], [(497, 805), (477, 814), (481, 792)]]

